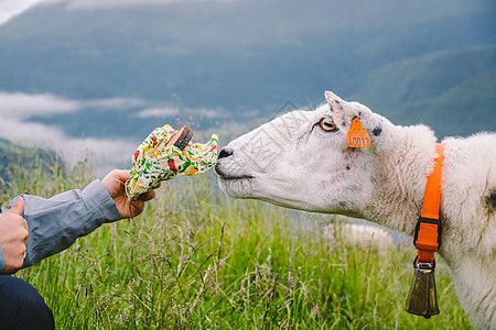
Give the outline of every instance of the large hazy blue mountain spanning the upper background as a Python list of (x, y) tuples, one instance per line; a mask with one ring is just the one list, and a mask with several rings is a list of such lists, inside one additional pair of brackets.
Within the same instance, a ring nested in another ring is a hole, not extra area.
[(174, 94), (188, 107), (274, 112), (325, 89), (342, 94), (353, 77), (391, 62), (496, 43), (494, 18), (482, 0), (54, 3), (0, 28), (0, 90), (75, 99)]

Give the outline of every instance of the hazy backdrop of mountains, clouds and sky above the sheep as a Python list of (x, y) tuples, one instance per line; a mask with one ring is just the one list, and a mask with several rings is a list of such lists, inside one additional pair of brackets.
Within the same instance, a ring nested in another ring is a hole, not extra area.
[(439, 139), (495, 131), (496, 2), (0, 0), (3, 158), (103, 175), (157, 127), (227, 144), (326, 89)]

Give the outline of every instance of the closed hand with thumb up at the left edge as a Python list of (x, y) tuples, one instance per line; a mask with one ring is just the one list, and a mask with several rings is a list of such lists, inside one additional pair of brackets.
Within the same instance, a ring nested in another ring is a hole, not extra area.
[(22, 218), (23, 210), (24, 199), (19, 197), (12, 208), (0, 213), (0, 246), (6, 260), (3, 274), (15, 273), (24, 263), (30, 231), (28, 222)]

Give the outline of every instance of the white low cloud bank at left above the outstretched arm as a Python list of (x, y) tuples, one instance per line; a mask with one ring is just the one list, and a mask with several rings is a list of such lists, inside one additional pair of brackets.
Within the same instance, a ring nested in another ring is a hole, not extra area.
[(96, 174), (128, 162), (140, 141), (131, 139), (71, 138), (62, 128), (30, 121), (31, 116), (71, 113), (85, 107), (125, 108), (148, 103), (140, 99), (112, 98), (101, 100), (69, 100), (50, 94), (29, 95), (0, 91), (0, 139), (26, 146), (41, 146), (57, 152), (69, 165), (85, 158), (95, 161)]

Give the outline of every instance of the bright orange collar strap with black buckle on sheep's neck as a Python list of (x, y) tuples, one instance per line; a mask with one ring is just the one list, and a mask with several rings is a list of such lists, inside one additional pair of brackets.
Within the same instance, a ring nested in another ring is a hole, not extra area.
[(417, 262), (434, 262), (434, 252), (441, 244), (442, 227), (439, 219), (439, 208), (441, 202), (441, 178), (444, 162), (444, 145), (435, 145), (436, 156), (434, 158), (434, 169), (428, 176), (425, 194), (423, 196), (422, 213), (416, 226), (413, 243), (417, 249)]

